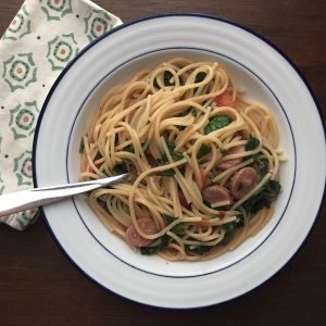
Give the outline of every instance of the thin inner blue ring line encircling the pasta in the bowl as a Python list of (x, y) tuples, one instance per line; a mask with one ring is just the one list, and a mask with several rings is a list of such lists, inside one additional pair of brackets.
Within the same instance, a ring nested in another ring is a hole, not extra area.
[(155, 50), (151, 50), (149, 52), (145, 52), (145, 53), (141, 53), (141, 54), (138, 54), (134, 58), (130, 58), (128, 59), (126, 62), (123, 62), (121, 63), (118, 66), (114, 67), (112, 71), (110, 71), (109, 73), (106, 73), (96, 85), (95, 87), (89, 91), (89, 93), (85, 97), (83, 103), (80, 104), (78, 111), (77, 111), (77, 114), (73, 121), (73, 124), (72, 124), (72, 127), (71, 127), (71, 133), (70, 133), (70, 137), (68, 137), (68, 141), (67, 141), (67, 147), (66, 147), (66, 162), (65, 162), (65, 168), (66, 168), (66, 177), (67, 177), (67, 181), (70, 183), (70, 173), (68, 173), (68, 156), (70, 156), (70, 147), (71, 147), (71, 139), (72, 139), (72, 135), (74, 133), (74, 128), (75, 128), (75, 124), (76, 124), (76, 121), (85, 105), (85, 103), (87, 102), (87, 100), (89, 99), (89, 97), (93, 93), (93, 91), (103, 83), (103, 80), (105, 80), (111, 74), (113, 74), (115, 71), (117, 71), (118, 68), (123, 67), (124, 65), (128, 64), (129, 62), (133, 62), (141, 57), (145, 57), (145, 55), (148, 55), (148, 54), (152, 54), (152, 53), (155, 53), (155, 52), (163, 52), (163, 51), (170, 51), (170, 50), (196, 50), (196, 51), (201, 51), (201, 52), (205, 52), (205, 53), (210, 53), (210, 54), (215, 54), (217, 57), (221, 57), (221, 58), (224, 58), (224, 59), (227, 59), (229, 60), (230, 62), (234, 62), (235, 64), (241, 66), (242, 68), (244, 68), (246, 71), (248, 71), (249, 74), (253, 75), (253, 77), (255, 77), (260, 83), (263, 84), (263, 86), (266, 88), (266, 90), (268, 92), (271, 92), (272, 97), (277, 101), (278, 105), (280, 106), (281, 111), (283, 111), (283, 114), (285, 115), (286, 117), (286, 121), (288, 123), (288, 126), (289, 126), (289, 129), (290, 129), (290, 134), (291, 134), (291, 137), (292, 137), (292, 143), (293, 143), (293, 152), (294, 152), (294, 173), (293, 173), (293, 179), (292, 179), (292, 184), (291, 184), (291, 190), (290, 190), (290, 193), (289, 193), (289, 197), (287, 199), (287, 203), (286, 205), (284, 206), (284, 210), (280, 214), (280, 217), (279, 220), (277, 221), (276, 225), (274, 226), (274, 228), (269, 231), (269, 234), (264, 238), (264, 240), (262, 240), (259, 246), (254, 247), (254, 249), (252, 249), (249, 253), (247, 253), (246, 255), (241, 256), (241, 259), (222, 267), (222, 268), (218, 268), (216, 271), (212, 271), (212, 272), (206, 272), (206, 273), (203, 273), (203, 274), (200, 274), (200, 275), (188, 275), (188, 276), (176, 276), (176, 275), (164, 275), (164, 274), (158, 274), (158, 273), (153, 273), (153, 272), (149, 272), (149, 271), (146, 271), (146, 269), (142, 269), (140, 267), (137, 267), (130, 263), (127, 263), (125, 260), (121, 259), (120, 256), (117, 256), (116, 254), (114, 254), (110, 249), (108, 249), (102, 242), (100, 239), (97, 238), (97, 236), (91, 231), (91, 229), (88, 227), (87, 223), (85, 222), (85, 220), (83, 218), (82, 216), (82, 213), (78, 209), (78, 205), (75, 201), (74, 198), (72, 198), (72, 201), (73, 201), (73, 204), (76, 209), (76, 212), (82, 221), (82, 223), (85, 225), (85, 227), (87, 228), (88, 233), (93, 237), (93, 239), (105, 250), (108, 251), (110, 254), (112, 254), (115, 259), (120, 260), (122, 263), (133, 267), (133, 268), (136, 268), (140, 272), (143, 272), (143, 273), (148, 273), (148, 274), (152, 274), (152, 275), (155, 275), (155, 276), (160, 276), (160, 277), (167, 277), (167, 278), (195, 278), (195, 277), (202, 277), (204, 275), (210, 275), (210, 274), (215, 274), (215, 273), (218, 273), (221, 271), (224, 271), (226, 268), (229, 268), (238, 263), (240, 263), (242, 260), (247, 259), (249, 255), (251, 255), (253, 252), (255, 252), (259, 248), (261, 248), (264, 242), (272, 236), (272, 234), (275, 231), (275, 229), (277, 228), (277, 226), (279, 225), (280, 221), (283, 220), (284, 217), (284, 214), (286, 213), (287, 209), (288, 209), (288, 205), (289, 205), (289, 202), (291, 200), (291, 197), (292, 197), (292, 192), (293, 192), (293, 187), (294, 187), (294, 184), (296, 184), (296, 176), (297, 176), (297, 146), (296, 146), (296, 139), (294, 139), (294, 136), (293, 136), (293, 131), (292, 131), (292, 126), (290, 124), (290, 121), (288, 118), (288, 115), (283, 106), (283, 104), (280, 103), (279, 99), (276, 97), (276, 95), (274, 93), (274, 91), (271, 89), (271, 87), (258, 75), (255, 74), (251, 68), (249, 68), (248, 66), (246, 66), (243, 63), (239, 62), (238, 60), (235, 60), (234, 58), (230, 58), (230, 57), (227, 57), (225, 54), (222, 54), (222, 53), (218, 53), (216, 51), (212, 51), (212, 50), (208, 50), (208, 49), (202, 49), (202, 48), (189, 48), (189, 47), (172, 47), (172, 48), (160, 48), (160, 49), (155, 49)]

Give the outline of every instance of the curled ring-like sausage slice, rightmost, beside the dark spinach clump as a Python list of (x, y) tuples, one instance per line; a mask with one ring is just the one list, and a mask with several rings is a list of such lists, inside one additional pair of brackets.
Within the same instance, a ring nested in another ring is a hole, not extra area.
[(258, 185), (258, 174), (252, 167), (239, 170), (230, 181), (230, 191), (235, 199), (240, 199)]

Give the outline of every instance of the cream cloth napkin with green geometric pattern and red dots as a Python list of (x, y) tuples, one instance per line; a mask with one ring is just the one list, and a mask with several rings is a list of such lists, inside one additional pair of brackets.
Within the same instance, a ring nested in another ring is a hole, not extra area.
[[(26, 0), (0, 40), (0, 195), (33, 187), (37, 117), (54, 80), (89, 42), (122, 24), (89, 0)], [(0, 217), (23, 230), (37, 210)]]

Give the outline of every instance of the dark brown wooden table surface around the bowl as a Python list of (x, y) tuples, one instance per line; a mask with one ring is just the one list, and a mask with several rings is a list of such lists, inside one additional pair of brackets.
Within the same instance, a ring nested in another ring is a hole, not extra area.
[[(325, 113), (324, 0), (97, 3), (124, 22), (163, 12), (200, 12), (246, 25), (291, 58)], [(1, 34), (21, 4), (1, 1)], [(189, 311), (148, 308), (100, 289), (67, 261), (42, 220), (23, 233), (0, 225), (0, 325), (326, 325), (325, 217), (324, 204), (300, 251), (267, 283), (230, 302)]]

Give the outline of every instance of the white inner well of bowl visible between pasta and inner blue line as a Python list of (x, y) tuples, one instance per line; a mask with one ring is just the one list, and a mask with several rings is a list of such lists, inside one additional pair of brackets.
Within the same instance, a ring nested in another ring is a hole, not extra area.
[(85, 201), (85, 197), (76, 197), (74, 205), (80, 221), (85, 224), (92, 237), (122, 262), (155, 275), (172, 277), (191, 277), (213, 273), (227, 268), (243, 260), (275, 231), (276, 226), (284, 217), (291, 197), (296, 175), (294, 143), (291, 125), (280, 101), (265, 82), (248, 66), (218, 52), (202, 49), (162, 49), (141, 53), (122, 63), (112, 71), (105, 72), (104, 77), (95, 85), (89, 93), (85, 93), (85, 100), (75, 116), (71, 130), (66, 154), (66, 174), (70, 181), (78, 180), (79, 175), (79, 145), (82, 137), (95, 114), (104, 92), (115, 85), (127, 82), (141, 70), (153, 68), (156, 64), (176, 57), (187, 57), (193, 61), (217, 61), (230, 73), (236, 83), (246, 90), (246, 97), (266, 105), (276, 118), (279, 134), (280, 148), (284, 150), (288, 162), (281, 164), (279, 178), (283, 192), (275, 203), (275, 212), (269, 223), (255, 236), (248, 239), (233, 252), (228, 252), (217, 259), (208, 262), (166, 262), (159, 256), (143, 256), (135, 253), (122, 239), (111, 234), (98, 220)]

